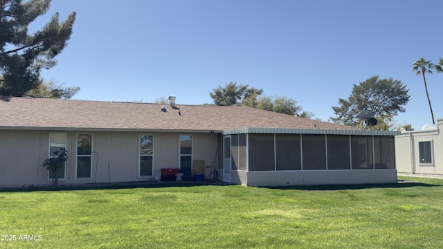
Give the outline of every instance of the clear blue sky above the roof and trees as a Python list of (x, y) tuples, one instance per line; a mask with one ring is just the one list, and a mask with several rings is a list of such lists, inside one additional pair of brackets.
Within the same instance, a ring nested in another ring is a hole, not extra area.
[[(77, 12), (57, 66), (42, 72), (80, 86), (77, 100), (211, 103), (228, 82), (291, 97), (327, 121), (353, 84), (372, 75), (401, 80), (411, 95), (395, 117), (431, 124), (420, 57), (443, 57), (443, 1), (53, 0), (35, 21)], [(443, 118), (443, 74), (426, 75), (435, 118)], [(440, 93), (440, 94), (439, 94)]]

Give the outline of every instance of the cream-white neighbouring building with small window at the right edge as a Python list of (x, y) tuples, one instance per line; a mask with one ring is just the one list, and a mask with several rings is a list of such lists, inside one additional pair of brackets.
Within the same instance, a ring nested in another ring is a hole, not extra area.
[(397, 170), (406, 174), (443, 174), (443, 118), (419, 131), (395, 136)]

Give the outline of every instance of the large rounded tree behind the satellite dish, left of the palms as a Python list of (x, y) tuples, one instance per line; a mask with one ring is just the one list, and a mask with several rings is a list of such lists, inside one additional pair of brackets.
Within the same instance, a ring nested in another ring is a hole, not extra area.
[(358, 115), (366, 109), (372, 110), (375, 118), (396, 116), (397, 113), (406, 111), (404, 105), (410, 98), (408, 91), (399, 80), (380, 79), (379, 75), (372, 76), (358, 85), (354, 84), (347, 100), (338, 99), (338, 106), (332, 107), (336, 117), (331, 117), (330, 120), (361, 127)]

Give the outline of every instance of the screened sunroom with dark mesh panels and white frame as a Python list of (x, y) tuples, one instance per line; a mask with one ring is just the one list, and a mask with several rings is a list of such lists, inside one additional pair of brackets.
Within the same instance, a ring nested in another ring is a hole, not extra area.
[(242, 185), (395, 183), (396, 131), (234, 129), (223, 179)]

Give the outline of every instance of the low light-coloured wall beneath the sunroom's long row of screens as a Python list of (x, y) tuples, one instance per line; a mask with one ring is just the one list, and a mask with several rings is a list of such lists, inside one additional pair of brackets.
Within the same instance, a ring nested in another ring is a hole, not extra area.
[(248, 186), (347, 185), (397, 183), (395, 169), (247, 172)]

